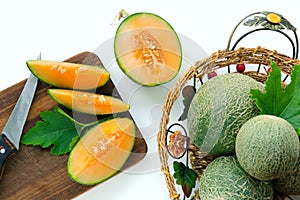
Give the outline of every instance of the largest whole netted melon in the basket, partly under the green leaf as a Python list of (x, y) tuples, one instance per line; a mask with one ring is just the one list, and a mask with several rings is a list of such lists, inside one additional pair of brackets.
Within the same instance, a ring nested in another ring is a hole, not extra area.
[(240, 127), (259, 113), (251, 89), (264, 90), (260, 83), (239, 73), (223, 74), (204, 83), (188, 111), (192, 142), (213, 155), (234, 153)]

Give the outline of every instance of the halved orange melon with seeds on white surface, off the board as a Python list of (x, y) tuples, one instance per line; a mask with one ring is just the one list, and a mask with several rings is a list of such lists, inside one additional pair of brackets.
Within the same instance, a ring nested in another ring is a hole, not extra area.
[(173, 79), (182, 61), (178, 35), (167, 21), (152, 13), (124, 19), (116, 32), (114, 51), (121, 70), (145, 86)]

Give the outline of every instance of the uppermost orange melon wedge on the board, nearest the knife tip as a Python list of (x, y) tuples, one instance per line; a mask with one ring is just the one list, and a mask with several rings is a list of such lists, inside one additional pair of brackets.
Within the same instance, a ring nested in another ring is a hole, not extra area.
[(45, 60), (31, 60), (26, 64), (41, 81), (59, 88), (94, 89), (104, 85), (110, 76), (99, 66)]

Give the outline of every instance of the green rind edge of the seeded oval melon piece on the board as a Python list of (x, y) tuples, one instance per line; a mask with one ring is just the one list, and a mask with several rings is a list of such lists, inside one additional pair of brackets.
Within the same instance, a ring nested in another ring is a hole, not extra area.
[[(116, 119), (118, 119), (118, 118), (114, 118), (114, 119), (111, 119), (111, 120), (116, 120)], [(128, 120), (130, 120), (130, 119), (128, 119)], [(131, 122), (134, 123), (132, 120), (131, 120)], [(103, 122), (103, 123), (105, 123), (105, 122)], [(96, 128), (96, 126), (93, 127), (92, 129), (94, 129), (94, 128)], [(92, 130), (92, 129), (90, 129), (90, 130)], [(89, 133), (89, 131), (87, 131), (87, 132), (84, 134), (84, 136), (83, 136), (82, 138), (84, 138), (85, 135), (87, 135), (88, 133)], [(82, 138), (81, 138), (81, 139), (82, 139)], [(94, 182), (89, 182), (89, 183), (83, 182), (83, 181), (81, 181), (80, 179), (74, 177), (73, 174), (69, 171), (69, 168), (70, 168), (69, 166), (70, 166), (70, 162), (71, 162), (72, 154), (73, 154), (72, 152), (73, 152), (73, 150), (74, 150), (74, 149), (76, 148), (76, 146), (77, 146), (77, 144), (75, 144), (75, 146), (73, 147), (73, 149), (72, 149), (72, 151), (71, 151), (71, 153), (70, 153), (70, 155), (69, 155), (68, 163), (67, 163), (67, 171), (68, 171), (69, 177), (70, 177), (73, 181), (75, 181), (76, 183), (79, 183), (79, 184), (81, 184), (81, 185), (86, 185), (86, 186), (96, 185), (96, 184), (99, 184), (99, 183), (102, 183), (102, 182), (108, 180), (109, 178), (111, 178), (112, 176), (114, 176), (115, 174), (117, 174), (117, 173), (122, 169), (122, 167), (126, 164), (128, 158), (129, 158), (129, 156), (130, 156), (130, 152), (132, 151), (132, 149), (133, 149), (133, 147), (134, 147), (135, 138), (136, 138), (136, 126), (134, 126), (134, 133), (133, 133), (132, 147), (129, 149), (129, 151), (128, 151), (128, 152), (129, 152), (129, 153), (128, 153), (128, 156), (127, 156), (126, 159), (124, 159), (124, 161), (122, 162), (120, 169), (116, 169), (116, 170), (115, 170), (114, 172), (112, 172), (111, 174), (107, 174), (107, 176), (104, 177), (103, 179), (95, 180)]]

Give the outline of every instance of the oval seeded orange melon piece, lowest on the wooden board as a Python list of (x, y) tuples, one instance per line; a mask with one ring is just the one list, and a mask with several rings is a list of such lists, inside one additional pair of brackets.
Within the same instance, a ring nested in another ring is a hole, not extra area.
[(134, 140), (135, 125), (128, 118), (115, 118), (97, 125), (71, 151), (70, 177), (84, 185), (105, 181), (125, 164)]

